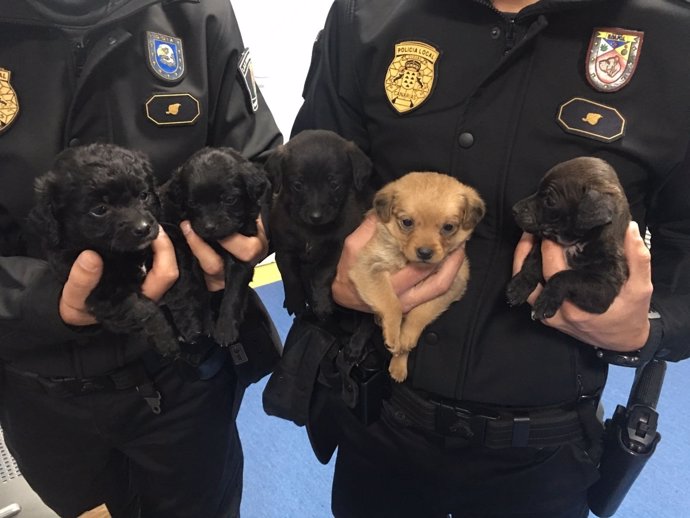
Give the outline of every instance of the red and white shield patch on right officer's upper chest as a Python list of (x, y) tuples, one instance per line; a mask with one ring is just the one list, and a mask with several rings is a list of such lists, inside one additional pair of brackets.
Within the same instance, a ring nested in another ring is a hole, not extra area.
[(643, 32), (594, 29), (587, 53), (587, 80), (600, 92), (623, 88), (635, 73), (642, 49)]

